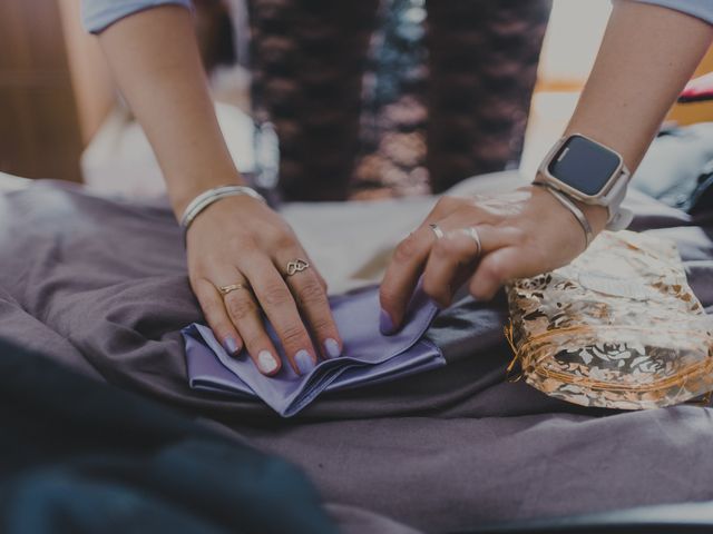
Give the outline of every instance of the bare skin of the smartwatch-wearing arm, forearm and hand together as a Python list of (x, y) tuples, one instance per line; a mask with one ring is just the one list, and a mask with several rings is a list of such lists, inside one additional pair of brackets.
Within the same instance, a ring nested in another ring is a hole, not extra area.
[[(617, 1), (593, 71), (564, 135), (584, 134), (619, 152), (634, 171), (667, 110), (711, 44), (713, 28), (681, 12)], [(595, 234), (605, 208), (578, 204)], [(445, 237), (437, 239), (429, 224)], [(475, 227), (482, 251), (462, 228)], [(463, 283), (488, 300), (509, 279), (572, 261), (585, 248), (573, 215), (546, 190), (528, 186), (504, 195), (442, 197), (423, 224), (399, 244), (381, 286), (381, 306), (398, 329), (420, 276), (446, 307)], [(391, 325), (389, 325), (391, 323)]]

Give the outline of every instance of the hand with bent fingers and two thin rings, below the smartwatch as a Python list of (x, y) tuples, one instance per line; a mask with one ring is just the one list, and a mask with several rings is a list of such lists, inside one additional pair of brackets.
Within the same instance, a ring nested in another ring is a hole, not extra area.
[[(606, 209), (579, 207), (595, 234), (600, 231)], [(437, 225), (436, 231), (430, 225)], [(573, 214), (541, 187), (442, 197), (394, 251), (381, 285), (381, 330), (388, 334), (401, 326), (421, 275), (423, 290), (442, 307), (466, 281), (477, 300), (489, 300), (507, 280), (561, 267), (584, 248), (585, 235)]]

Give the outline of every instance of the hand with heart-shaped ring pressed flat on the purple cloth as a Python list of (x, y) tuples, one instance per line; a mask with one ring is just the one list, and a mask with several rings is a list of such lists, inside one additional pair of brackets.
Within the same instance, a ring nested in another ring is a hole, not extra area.
[[(280, 370), (263, 313), (299, 375), (309, 373), (320, 356), (341, 354), (324, 279), (292, 228), (264, 202), (248, 196), (214, 202), (191, 225), (186, 247), (191, 286), (228, 354), (245, 346), (262, 374)], [(300, 259), (310, 266), (289, 275), (287, 264)], [(229, 285), (238, 288), (222, 295), (218, 288)]]

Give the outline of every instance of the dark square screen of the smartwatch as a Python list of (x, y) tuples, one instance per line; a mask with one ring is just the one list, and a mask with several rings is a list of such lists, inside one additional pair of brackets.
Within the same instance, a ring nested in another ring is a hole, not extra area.
[(559, 181), (595, 196), (621, 164), (619, 156), (580, 136), (570, 137), (549, 162), (547, 170)]

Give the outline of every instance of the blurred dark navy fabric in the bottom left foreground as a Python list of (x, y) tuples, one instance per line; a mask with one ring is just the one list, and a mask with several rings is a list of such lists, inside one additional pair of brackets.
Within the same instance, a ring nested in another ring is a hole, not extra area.
[(0, 532), (336, 532), (282, 459), (3, 342), (0, 376)]

